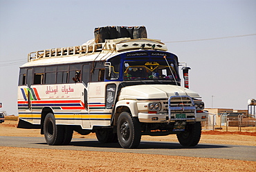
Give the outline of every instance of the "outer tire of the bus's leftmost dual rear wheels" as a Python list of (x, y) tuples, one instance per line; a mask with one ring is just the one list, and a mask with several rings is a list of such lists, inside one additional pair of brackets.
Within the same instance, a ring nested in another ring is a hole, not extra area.
[(48, 145), (60, 145), (64, 138), (64, 126), (57, 126), (55, 117), (48, 113), (44, 119), (44, 138)]

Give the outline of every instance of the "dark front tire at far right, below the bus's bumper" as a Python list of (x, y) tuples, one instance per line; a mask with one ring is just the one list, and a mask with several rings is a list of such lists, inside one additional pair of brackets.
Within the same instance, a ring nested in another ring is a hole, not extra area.
[(179, 143), (182, 146), (196, 146), (201, 138), (201, 122), (187, 124), (185, 131), (177, 134)]

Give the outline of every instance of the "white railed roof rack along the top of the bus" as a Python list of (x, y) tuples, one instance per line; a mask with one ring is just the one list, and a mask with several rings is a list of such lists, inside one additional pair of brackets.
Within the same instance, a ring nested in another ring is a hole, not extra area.
[(131, 39), (130, 37), (122, 37), (113, 40), (105, 40), (104, 43), (95, 43), (93, 40), (86, 42), (80, 46), (69, 46), (56, 49), (45, 49), (28, 53), (28, 62), (39, 60), (42, 58), (57, 58), (68, 56), (87, 55), (100, 51), (127, 51), (135, 49), (154, 49), (167, 51), (166, 45), (160, 40), (152, 40), (148, 38)]

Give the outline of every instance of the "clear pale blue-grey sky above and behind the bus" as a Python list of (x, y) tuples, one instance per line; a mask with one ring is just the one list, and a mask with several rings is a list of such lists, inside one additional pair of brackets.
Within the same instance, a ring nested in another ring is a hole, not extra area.
[(146, 26), (187, 62), (205, 107), (247, 109), (256, 98), (255, 9), (255, 0), (0, 0), (0, 112), (17, 115), (28, 53), (81, 45), (100, 26)]

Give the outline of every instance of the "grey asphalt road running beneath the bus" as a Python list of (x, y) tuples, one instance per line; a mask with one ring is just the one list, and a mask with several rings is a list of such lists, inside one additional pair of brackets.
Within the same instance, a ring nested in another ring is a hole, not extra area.
[(219, 144), (198, 144), (194, 147), (183, 147), (178, 142), (141, 141), (138, 148), (121, 148), (118, 143), (100, 144), (97, 139), (75, 139), (68, 146), (48, 146), (44, 137), (3, 137), (0, 146), (47, 148), (60, 150), (89, 150), (116, 153), (145, 153), (158, 155), (174, 155), (186, 157), (212, 157), (230, 160), (246, 160), (256, 162), (256, 146), (237, 146)]

